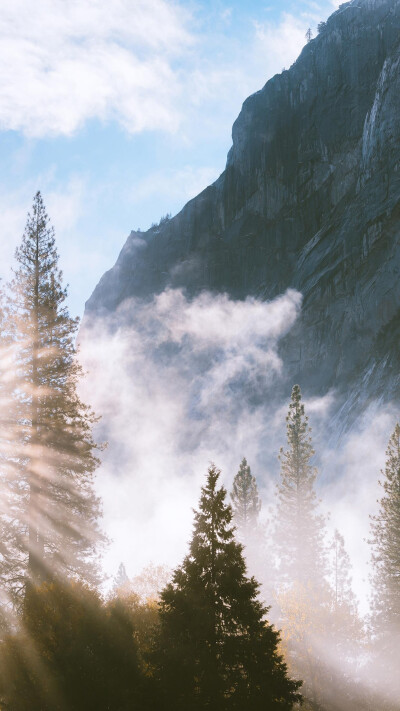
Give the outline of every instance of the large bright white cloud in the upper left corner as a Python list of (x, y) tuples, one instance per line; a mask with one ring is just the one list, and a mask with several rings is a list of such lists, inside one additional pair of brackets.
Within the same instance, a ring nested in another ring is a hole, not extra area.
[(90, 118), (173, 130), (173, 61), (191, 43), (166, 0), (28, 0), (0, 8), (0, 126), (69, 135)]

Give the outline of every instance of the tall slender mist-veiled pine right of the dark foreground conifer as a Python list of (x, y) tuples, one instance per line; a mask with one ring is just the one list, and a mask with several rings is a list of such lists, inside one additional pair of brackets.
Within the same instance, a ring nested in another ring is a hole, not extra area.
[(311, 429), (298, 385), (286, 418), (287, 449), (280, 451), (274, 548), (279, 559), (279, 625), (291, 674), (304, 680), (311, 709), (319, 709), (325, 685), (323, 640), (330, 627), (331, 594), (326, 580), (325, 519), (315, 493)]

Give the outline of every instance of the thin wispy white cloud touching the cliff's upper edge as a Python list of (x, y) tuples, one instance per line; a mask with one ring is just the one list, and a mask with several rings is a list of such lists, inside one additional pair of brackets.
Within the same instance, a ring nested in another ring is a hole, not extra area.
[(245, 40), (221, 35), (218, 54), (211, 40), (212, 51), (207, 52), (208, 42), (199, 37), (197, 55), (181, 76), (186, 84), (182, 136), (190, 141), (193, 127), (200, 134), (223, 132), (226, 136), (227, 125), (235, 120), (247, 96), (297, 59), (306, 43), (308, 27), (315, 29), (324, 11), (329, 14), (326, 4), (320, 6), (319, 13), (313, 8), (297, 15), (282, 12), (277, 20), (256, 20)]

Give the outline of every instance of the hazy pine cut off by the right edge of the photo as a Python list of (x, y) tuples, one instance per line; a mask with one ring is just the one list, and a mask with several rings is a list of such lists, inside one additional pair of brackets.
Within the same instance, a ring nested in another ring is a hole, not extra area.
[[(373, 565), (374, 675), (384, 690), (388, 708), (398, 709), (400, 682), (400, 424), (389, 439), (386, 465), (379, 482), (383, 496), (371, 516)], [(393, 702), (396, 703), (393, 703)], [(383, 700), (382, 708), (383, 708)], [(386, 707), (385, 707), (386, 708)]]

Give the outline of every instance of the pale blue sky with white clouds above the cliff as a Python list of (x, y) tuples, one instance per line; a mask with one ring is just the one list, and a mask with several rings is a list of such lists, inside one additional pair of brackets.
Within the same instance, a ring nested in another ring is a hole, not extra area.
[(131, 229), (175, 214), (225, 166), (244, 99), (335, 0), (4, 0), (0, 276), (36, 190), (82, 315)]

